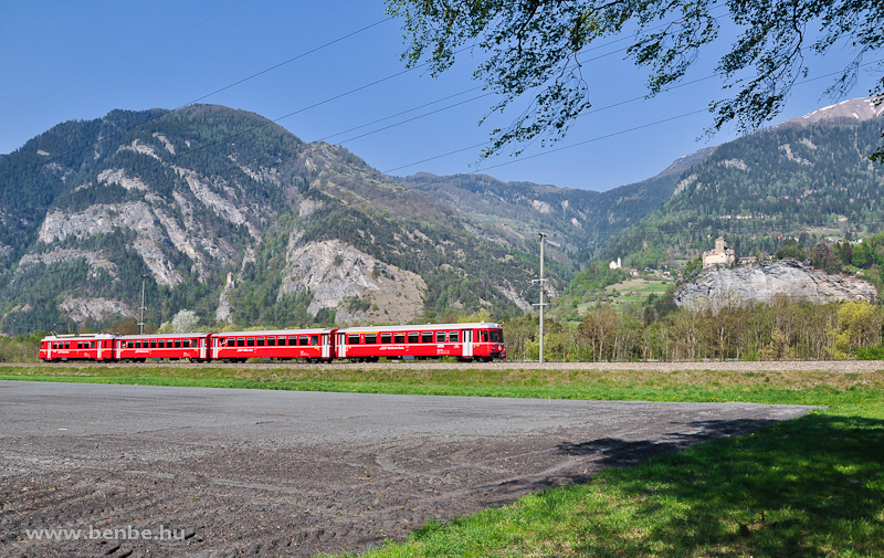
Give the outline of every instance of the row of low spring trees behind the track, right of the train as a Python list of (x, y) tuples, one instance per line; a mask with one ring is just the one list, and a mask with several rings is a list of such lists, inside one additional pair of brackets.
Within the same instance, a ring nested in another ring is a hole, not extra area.
[[(777, 296), (770, 304), (729, 304), (688, 310), (672, 293), (632, 313), (597, 306), (576, 327), (545, 320), (544, 359), (641, 360), (836, 360), (884, 355), (884, 307), (865, 302), (817, 305)], [(539, 355), (538, 318), (505, 322), (512, 360)]]

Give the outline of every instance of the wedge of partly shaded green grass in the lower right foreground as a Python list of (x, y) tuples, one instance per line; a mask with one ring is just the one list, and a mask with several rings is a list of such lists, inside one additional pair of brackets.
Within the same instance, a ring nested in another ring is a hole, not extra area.
[(819, 412), (609, 470), (367, 556), (883, 556), (882, 411)]

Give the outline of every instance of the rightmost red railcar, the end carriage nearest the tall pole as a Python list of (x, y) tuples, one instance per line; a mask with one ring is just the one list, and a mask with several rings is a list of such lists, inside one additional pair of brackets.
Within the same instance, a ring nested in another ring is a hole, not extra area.
[(488, 362), (502, 358), (505, 350), (501, 325), (484, 322), (347, 327), (338, 329), (335, 336), (335, 356), (350, 360), (454, 357)]

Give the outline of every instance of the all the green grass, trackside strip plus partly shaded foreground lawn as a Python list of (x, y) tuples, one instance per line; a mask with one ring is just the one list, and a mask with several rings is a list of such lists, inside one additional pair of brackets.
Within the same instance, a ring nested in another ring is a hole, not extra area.
[(387, 393), (825, 406), (369, 556), (884, 556), (884, 371), (0, 368), (0, 379)]

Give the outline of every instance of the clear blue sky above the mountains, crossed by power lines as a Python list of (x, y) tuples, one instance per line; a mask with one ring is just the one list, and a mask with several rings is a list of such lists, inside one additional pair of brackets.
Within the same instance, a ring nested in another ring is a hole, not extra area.
[[(7, 0), (0, 19), (0, 154), (71, 119), (101, 117), (114, 108), (176, 108), (256, 72), (386, 19), (381, 0), (323, 2), (220, 0), (190, 2), (25, 2)], [(352, 36), (204, 98), (252, 110), (271, 119), (350, 90), (392, 76), (404, 69), (401, 22), (386, 21)], [(644, 73), (618, 52), (625, 42), (600, 42), (588, 57), (585, 75), (593, 109), (644, 93)], [(722, 49), (726, 46), (722, 44)], [(717, 54), (720, 54), (720, 50)], [(851, 53), (835, 50), (815, 61), (810, 77), (839, 70)], [(704, 108), (720, 96), (716, 78), (686, 85), (657, 98), (628, 103), (583, 116), (555, 146), (532, 146), (518, 158), (478, 160), (480, 148), (446, 157), (449, 151), (487, 140), (494, 124), (515, 116), (477, 122), (493, 97), (470, 90), (475, 59), (464, 53), (439, 78), (412, 71), (356, 93), (281, 119), (278, 124), (306, 141), (341, 143), (369, 165), (394, 175), (439, 175), (487, 170), (502, 180), (528, 180), (559, 187), (608, 190), (649, 178), (707, 145), (735, 136), (725, 130), (712, 140), (703, 129)], [(686, 81), (706, 77), (716, 52), (704, 53)], [(864, 96), (873, 80), (862, 74), (851, 97)], [(799, 85), (777, 122), (810, 113), (832, 101), (822, 97), (829, 81)], [(448, 101), (435, 103), (445, 97)], [(472, 101), (471, 101), (472, 99)], [(393, 114), (406, 115), (344, 135), (334, 135)], [(345, 141), (402, 119), (436, 114)], [(522, 108), (522, 106), (519, 106)], [(680, 118), (676, 118), (680, 117)], [(666, 123), (623, 133), (660, 120)], [(599, 138), (599, 139), (597, 139)], [(539, 157), (530, 157), (534, 155)], [(431, 159), (425, 160), (424, 159)], [(414, 165), (418, 161), (423, 161)], [(501, 166), (503, 165), (503, 166)]]

